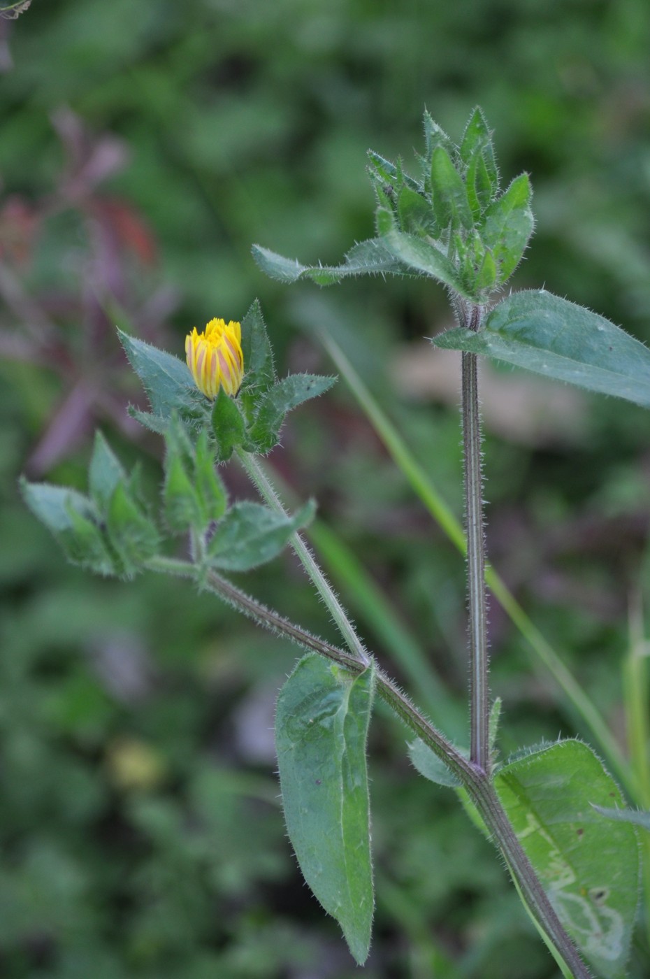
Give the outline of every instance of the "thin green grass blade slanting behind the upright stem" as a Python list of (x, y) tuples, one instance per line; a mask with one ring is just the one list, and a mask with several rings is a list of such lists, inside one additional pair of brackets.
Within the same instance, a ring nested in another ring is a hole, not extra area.
[[(346, 380), (352, 395), (356, 398), (380, 439), (395, 459), (396, 465), (401, 469), (412, 489), (420, 497), (444, 534), (461, 553), (465, 553), (465, 536), (461, 525), (441, 498), (440, 493), (432, 484), (428, 475), (416, 461), (396, 431), (393, 423), (370, 394), (339, 345), (329, 336), (321, 335), (320, 339), (341, 375)], [(575, 676), (567, 669), (548, 640), (544, 638), (539, 629), (531, 621), (508, 586), (492, 568), (488, 567), (486, 569), (486, 581), (494, 598), (496, 598), (507, 613), (513, 625), (520, 630), (524, 638), (528, 641), (539, 663), (553, 676), (567, 697), (567, 700), (572, 704), (583, 723), (591, 731), (594, 740), (600, 746), (612, 770), (626, 787), (630, 798), (638, 802), (636, 781), (631, 775), (619, 745), (598, 709), (581, 688)]]

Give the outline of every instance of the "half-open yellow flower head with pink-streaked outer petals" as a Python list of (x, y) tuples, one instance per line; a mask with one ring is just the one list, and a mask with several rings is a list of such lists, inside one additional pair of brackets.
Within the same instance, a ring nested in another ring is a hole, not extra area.
[(244, 377), (242, 327), (232, 320), (226, 326), (222, 319), (210, 319), (203, 333), (197, 328), (185, 338), (187, 366), (197, 388), (208, 397), (216, 397), (219, 388), (226, 395), (236, 395)]

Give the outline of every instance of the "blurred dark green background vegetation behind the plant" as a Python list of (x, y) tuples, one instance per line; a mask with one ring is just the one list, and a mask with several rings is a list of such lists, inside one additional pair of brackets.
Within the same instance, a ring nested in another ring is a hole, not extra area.
[[(456, 364), (422, 339), (448, 325), (442, 290), (288, 289), (250, 246), (339, 259), (372, 231), (366, 149), (408, 165), (425, 104), (459, 137), (481, 103), (504, 176), (534, 185), (516, 286), (545, 283), (648, 342), (648, 50), (647, 0), (33, 0), (0, 21), (4, 977), (359, 974), (278, 805), (273, 702), (295, 650), (189, 585), (67, 567), (17, 477), (78, 484), (99, 424), (124, 461), (144, 453), (155, 491), (161, 446), (125, 414), (140, 394), (115, 324), (182, 353), (191, 326), (257, 296), (281, 369), (331, 371), (309, 337), (327, 325), (459, 512)], [(508, 371), (486, 372), (484, 406), (493, 563), (623, 737), (648, 415)], [(344, 384), (292, 417), (273, 462), (318, 498), (460, 707), (462, 561)], [(226, 478), (250, 492), (234, 466)], [(289, 557), (247, 586), (332, 635)], [(501, 751), (585, 735), (499, 608), (491, 632)], [(449, 722), (448, 703), (429, 707)], [(488, 844), (382, 717), (371, 774), (364, 975), (554, 977)], [(647, 955), (639, 943), (634, 976)]]

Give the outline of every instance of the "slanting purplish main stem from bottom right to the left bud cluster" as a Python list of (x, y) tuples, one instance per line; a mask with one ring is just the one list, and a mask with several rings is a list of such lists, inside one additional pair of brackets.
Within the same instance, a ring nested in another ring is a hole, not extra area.
[[(205, 572), (187, 561), (173, 558), (154, 557), (146, 565), (151, 571), (171, 574), (179, 578), (187, 578), (198, 583), (204, 583), (211, 591), (226, 601), (229, 605), (243, 612), (259, 625), (285, 636), (297, 643), (308, 652), (319, 653), (345, 667), (351, 673), (359, 674), (366, 669), (355, 656), (343, 649), (311, 635), (300, 626), (296, 626), (277, 612), (267, 609), (255, 601), (236, 585), (221, 578), (214, 572)], [(367, 655), (367, 654), (366, 654)], [(377, 692), (395, 711), (395, 714), (421, 737), (425, 744), (444, 762), (461, 781), (470, 799), (476, 806), (488, 828), (488, 833), (501, 851), (510, 872), (517, 881), (526, 903), (532, 909), (535, 918), (551, 943), (571, 968), (575, 979), (589, 979), (589, 972), (576, 951), (576, 948), (565, 932), (555, 911), (552, 909), (546, 894), (537, 879), (533, 866), (526, 856), (515, 832), (503, 811), (503, 807), (490, 783), (488, 774), (473, 765), (458, 749), (441, 734), (431, 722), (410, 702), (408, 697), (399, 689), (395, 680), (387, 676), (383, 670), (377, 671)]]

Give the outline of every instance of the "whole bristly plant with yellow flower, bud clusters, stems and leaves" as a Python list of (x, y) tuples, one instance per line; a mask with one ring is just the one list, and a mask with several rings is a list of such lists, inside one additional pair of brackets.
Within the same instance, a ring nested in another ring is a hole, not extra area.
[[(125, 580), (142, 572), (189, 579), (302, 649), (277, 704), (283, 806), (304, 878), (339, 921), (358, 963), (368, 956), (374, 908), (366, 742), (380, 697), (410, 731), (415, 768), (455, 791), (493, 842), (563, 975), (617, 979), (625, 975), (637, 909), (636, 834), (647, 835), (650, 816), (607, 726), (539, 638), (534, 641), (542, 660), (623, 789), (580, 740), (536, 745), (504, 764), (494, 761), (500, 702), (490, 701), (488, 683), (487, 574), (513, 621), (529, 629), (529, 638), (537, 633), (503, 583), (487, 572), (477, 358), (493, 357), (648, 407), (650, 353), (603, 317), (543, 289), (505, 293), (533, 233), (531, 186), (526, 174), (501, 185), (480, 109), (457, 144), (428, 114), (424, 136), (415, 176), (401, 162), (370, 152), (376, 236), (354, 245), (341, 265), (305, 266), (257, 246), (254, 256), (284, 283), (310, 279), (325, 286), (380, 273), (424, 278), (448, 294), (457, 325), (434, 343), (461, 351), (465, 534), (451, 525), (447, 530), (467, 556), (468, 749), (453, 743), (378, 667), (301, 534), (313, 504), (290, 514), (274, 488), (263, 457), (278, 443), (287, 412), (322, 395), (334, 379), (297, 374), (279, 380), (257, 303), (241, 324), (213, 319), (202, 333), (194, 329), (186, 362), (120, 334), (151, 405), (150, 412), (132, 414), (165, 444), (157, 503), (144, 498), (137, 471), (124, 471), (100, 433), (87, 494), (27, 482), (23, 494), (70, 561)], [(335, 344), (329, 349), (349, 380), (345, 358)], [(360, 382), (353, 383), (358, 393)], [(367, 408), (369, 396), (362, 396)], [(371, 416), (396, 438), (376, 406)], [(263, 502), (228, 499), (217, 464), (233, 456)], [(179, 537), (188, 542), (183, 558), (177, 556)], [(286, 546), (324, 600), (340, 646), (230, 581), (231, 574), (272, 560)], [(647, 853), (644, 844), (641, 856)]]

